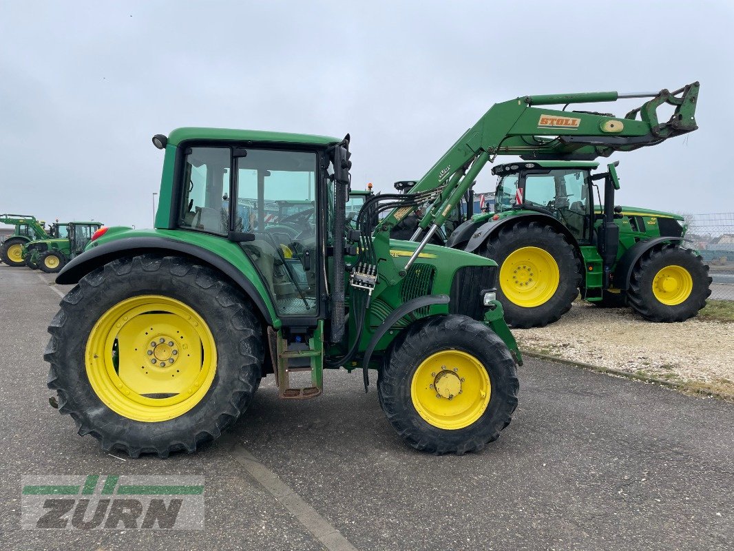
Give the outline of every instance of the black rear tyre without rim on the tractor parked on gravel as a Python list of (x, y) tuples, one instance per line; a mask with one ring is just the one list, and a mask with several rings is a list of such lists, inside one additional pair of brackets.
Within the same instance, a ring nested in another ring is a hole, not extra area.
[(562, 234), (538, 222), (518, 222), (512, 226), (503, 226), (484, 243), (480, 252), (482, 256), (497, 262), (501, 269), (511, 253), (525, 247), (541, 248), (553, 256), (558, 264), (560, 278), (556, 292), (539, 306), (519, 306), (506, 297), (498, 271), (497, 299), (504, 309), (506, 323), (512, 327), (544, 327), (558, 321), (571, 309), (581, 284), (581, 261)]

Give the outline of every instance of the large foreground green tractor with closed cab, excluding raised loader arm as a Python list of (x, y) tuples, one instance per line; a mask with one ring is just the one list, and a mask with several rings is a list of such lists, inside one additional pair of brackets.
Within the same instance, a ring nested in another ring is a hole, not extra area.
[[(48, 386), (81, 435), (134, 457), (193, 452), (264, 375), (302, 400), (340, 367), (366, 388), (377, 371), (419, 450), (478, 450), (509, 424), (522, 360), (495, 262), (374, 234), (381, 212), (434, 192), (350, 194), (348, 136), (189, 128), (153, 143), (156, 228), (103, 228), (57, 277), (76, 287), (48, 328)], [(313, 212), (269, 221), (273, 201)]]

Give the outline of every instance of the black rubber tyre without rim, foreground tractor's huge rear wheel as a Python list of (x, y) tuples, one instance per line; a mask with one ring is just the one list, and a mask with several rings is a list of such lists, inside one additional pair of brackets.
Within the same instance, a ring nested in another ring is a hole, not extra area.
[[(92, 326), (121, 300), (164, 295), (185, 303), (205, 320), (217, 348), (217, 370), (206, 395), (189, 411), (160, 422), (117, 414), (92, 389), (84, 350)], [(48, 332), (44, 359), (51, 364), (48, 388), (58, 392), (59, 411), (91, 434), (105, 451), (131, 457), (193, 453), (216, 439), (250, 404), (263, 363), (261, 323), (250, 300), (216, 270), (174, 256), (117, 259), (84, 276), (62, 299)]]

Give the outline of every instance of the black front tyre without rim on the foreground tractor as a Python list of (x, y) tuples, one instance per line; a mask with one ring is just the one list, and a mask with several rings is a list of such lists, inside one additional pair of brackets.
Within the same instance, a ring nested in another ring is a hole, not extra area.
[[(481, 417), (465, 428), (437, 428), (413, 406), (413, 374), (424, 359), (441, 350), (470, 353), (490, 378), (490, 402)], [(518, 386), (515, 361), (502, 339), (483, 323), (457, 315), (410, 325), (393, 343), (377, 380), (379, 403), (393, 428), (410, 446), (436, 455), (481, 450), (497, 439), (517, 407)]]

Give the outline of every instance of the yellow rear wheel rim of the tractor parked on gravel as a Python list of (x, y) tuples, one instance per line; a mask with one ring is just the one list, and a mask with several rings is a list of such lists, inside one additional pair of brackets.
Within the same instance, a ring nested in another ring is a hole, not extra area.
[(556, 259), (545, 249), (523, 247), (512, 251), (500, 268), (500, 287), (512, 303), (533, 308), (548, 302), (561, 275)]

